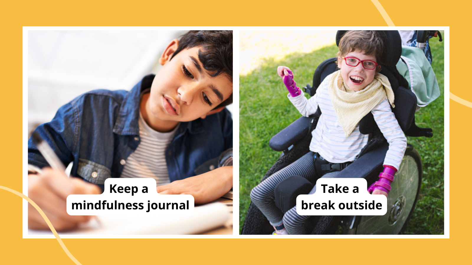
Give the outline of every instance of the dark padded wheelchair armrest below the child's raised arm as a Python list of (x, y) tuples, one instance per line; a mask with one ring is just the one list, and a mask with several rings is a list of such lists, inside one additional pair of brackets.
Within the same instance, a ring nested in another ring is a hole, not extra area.
[(300, 117), (285, 129), (274, 135), (269, 146), (275, 151), (284, 151), (303, 138), (310, 128), (310, 117)]

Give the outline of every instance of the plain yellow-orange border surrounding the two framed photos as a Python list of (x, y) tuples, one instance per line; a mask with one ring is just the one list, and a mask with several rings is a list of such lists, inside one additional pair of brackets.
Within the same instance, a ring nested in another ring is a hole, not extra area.
[[(471, 4), (463, 1), (431, 0), (382, 1), (397, 26), (450, 26), (451, 91), (462, 99), (472, 99), (467, 82), (470, 75), (463, 63), (471, 36), (468, 18)], [(101, 1), (21, 1), (2, 6), (0, 113), (3, 140), (0, 185), (22, 190), (22, 26), (384, 26), (386, 20), (371, 1), (298, 1), (255, 2), (120, 2)], [(343, 11), (371, 14), (366, 22), (346, 18)], [(236, 108), (237, 109), (237, 108)], [(471, 178), (464, 170), (470, 164), (472, 149), (467, 117), (471, 108), (451, 103), (451, 235), (438, 239), (65, 239), (67, 245), (85, 265), (89, 264), (242, 264), (333, 262), (365, 264), (417, 263), (444, 264), (466, 261), (470, 251), (467, 223), (468, 189)], [(456, 118), (457, 117), (457, 118)], [(465, 166), (464, 166), (465, 165)], [(445, 174), (449, 174), (447, 171)], [(446, 189), (445, 189), (446, 190)], [(2, 264), (71, 264), (53, 239), (22, 239), (22, 203), (8, 192), (0, 192), (0, 263)], [(449, 205), (447, 205), (449, 207)], [(384, 258), (373, 253), (387, 249)], [(342, 253), (342, 255), (341, 255)]]

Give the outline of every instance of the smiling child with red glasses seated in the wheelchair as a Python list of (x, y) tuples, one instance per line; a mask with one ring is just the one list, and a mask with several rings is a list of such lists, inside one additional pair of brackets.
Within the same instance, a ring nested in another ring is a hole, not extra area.
[[(293, 73), (279, 66), (277, 73), (289, 91), (288, 99), (303, 116), (321, 116), (312, 131), (310, 152), (294, 163), (279, 170), (251, 191), (253, 203), (274, 227), (274, 234), (305, 234), (304, 223), (309, 216), (298, 215), (296, 206), (285, 214), (275, 205), (274, 190), (289, 176), (299, 175), (312, 182), (335, 177), (352, 163), (369, 140), (362, 134), (359, 122), (372, 113), (380, 132), (388, 141), (384, 170), (379, 181), (369, 187), (372, 194), (387, 196), (394, 174), (400, 166), (406, 149), (406, 137), (390, 105), (394, 93), (385, 75), (379, 74), (384, 41), (376, 31), (349, 31), (339, 41), (337, 66), (339, 71), (328, 75), (316, 94), (306, 99), (293, 81)], [(316, 186), (309, 194), (316, 191)]]

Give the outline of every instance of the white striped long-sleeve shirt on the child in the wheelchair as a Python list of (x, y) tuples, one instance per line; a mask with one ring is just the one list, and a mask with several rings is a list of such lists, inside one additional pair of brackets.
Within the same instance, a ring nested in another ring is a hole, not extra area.
[[(312, 132), (311, 151), (318, 152), (321, 157), (331, 163), (354, 161), (361, 149), (367, 144), (369, 135), (362, 134), (359, 131), (359, 124), (357, 124), (354, 131), (348, 137), (345, 136), (343, 128), (337, 120), (333, 103), (329, 98), (328, 79), (325, 78), (316, 94), (310, 99), (306, 99), (303, 94), (295, 98), (290, 94), (287, 96), (303, 116), (314, 114), (320, 106), (321, 116)], [(388, 141), (384, 165), (394, 166), (398, 169), (405, 154), (405, 134), (398, 125), (387, 99), (375, 106), (371, 112), (380, 132)]]

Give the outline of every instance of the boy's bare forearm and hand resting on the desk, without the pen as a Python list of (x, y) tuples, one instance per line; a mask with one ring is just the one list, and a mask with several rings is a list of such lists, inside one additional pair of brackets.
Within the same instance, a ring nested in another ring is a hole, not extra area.
[(190, 194), (195, 204), (211, 202), (233, 187), (233, 166), (223, 166), (210, 172), (177, 180), (157, 187), (159, 194)]

